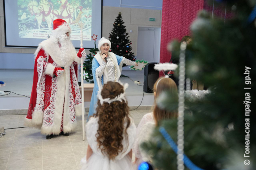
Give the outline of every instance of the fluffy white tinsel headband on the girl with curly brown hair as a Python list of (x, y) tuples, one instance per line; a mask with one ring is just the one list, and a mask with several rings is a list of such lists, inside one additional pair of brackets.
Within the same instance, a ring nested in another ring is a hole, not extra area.
[(128, 83), (121, 83), (120, 81), (117, 82), (119, 83), (120, 85), (122, 85), (124, 87), (124, 92), (119, 94), (118, 96), (116, 96), (114, 99), (110, 99), (110, 98), (106, 98), (106, 99), (103, 99), (102, 98), (102, 95), (101, 95), (101, 89), (99, 88), (99, 91), (98, 91), (98, 99), (100, 100), (100, 104), (103, 105), (103, 102), (106, 102), (108, 104), (114, 102), (114, 101), (121, 101), (124, 100), (124, 102), (126, 102), (126, 98), (125, 98), (125, 90), (128, 88)]

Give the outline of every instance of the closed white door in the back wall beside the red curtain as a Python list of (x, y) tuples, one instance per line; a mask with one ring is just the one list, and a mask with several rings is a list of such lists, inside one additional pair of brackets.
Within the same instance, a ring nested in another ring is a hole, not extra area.
[(148, 63), (159, 62), (161, 28), (138, 28), (137, 57)]

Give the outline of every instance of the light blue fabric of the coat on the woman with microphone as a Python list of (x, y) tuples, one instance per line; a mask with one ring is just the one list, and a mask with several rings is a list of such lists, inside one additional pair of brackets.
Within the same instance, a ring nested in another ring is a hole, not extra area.
[[(124, 57), (122, 57), (122, 56), (116, 55), (118, 66), (122, 62), (123, 58)], [(96, 69), (98, 67), (100, 67), (100, 64), (96, 60), (96, 58), (94, 57), (92, 59), (92, 77), (93, 77), (93, 81), (94, 81), (94, 87), (93, 87), (93, 91), (92, 91), (92, 98), (91, 98), (91, 103), (90, 103), (89, 114), (88, 114), (88, 117), (87, 117), (87, 122), (89, 121), (90, 116), (92, 116), (94, 113), (96, 113), (96, 107), (97, 107), (97, 101), (98, 101), (97, 94), (98, 94), (98, 91), (99, 91), (99, 87), (98, 87), (98, 83), (97, 83), (97, 81), (99, 81), (99, 78), (96, 76)], [(101, 83), (102, 86), (104, 85), (104, 74), (102, 75), (100, 83)]]

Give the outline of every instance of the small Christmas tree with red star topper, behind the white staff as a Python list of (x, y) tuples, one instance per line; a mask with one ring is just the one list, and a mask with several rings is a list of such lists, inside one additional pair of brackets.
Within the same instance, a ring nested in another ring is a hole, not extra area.
[(86, 55), (85, 61), (84, 61), (84, 80), (86, 80), (87, 82), (90, 83), (94, 83), (93, 82), (93, 77), (92, 77), (92, 59), (95, 56), (95, 54), (97, 54), (97, 52), (99, 51), (98, 48), (96, 48), (96, 39), (97, 39), (98, 35), (94, 35), (92, 36), (92, 40), (94, 40), (94, 48), (91, 48), (89, 51), (90, 53), (88, 55)]

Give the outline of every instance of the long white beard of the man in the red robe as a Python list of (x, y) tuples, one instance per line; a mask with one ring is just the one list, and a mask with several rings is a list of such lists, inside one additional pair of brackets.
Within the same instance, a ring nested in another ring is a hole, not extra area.
[(64, 63), (65, 67), (68, 67), (70, 64), (67, 65), (67, 63), (72, 63), (71, 61), (74, 60), (76, 56), (76, 49), (70, 40), (70, 36), (68, 37), (66, 34), (61, 34), (57, 39), (61, 45), (60, 60)]

